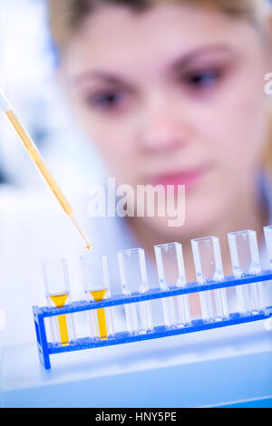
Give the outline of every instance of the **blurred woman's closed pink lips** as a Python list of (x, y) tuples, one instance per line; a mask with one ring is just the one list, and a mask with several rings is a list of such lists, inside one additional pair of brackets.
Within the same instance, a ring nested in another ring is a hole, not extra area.
[(199, 168), (160, 175), (154, 179), (151, 179), (150, 183), (153, 186), (162, 185), (165, 188), (168, 185), (172, 185), (175, 187), (175, 191), (178, 189), (178, 185), (184, 185), (185, 189), (192, 189), (203, 177), (206, 170), (207, 169), (205, 168)]

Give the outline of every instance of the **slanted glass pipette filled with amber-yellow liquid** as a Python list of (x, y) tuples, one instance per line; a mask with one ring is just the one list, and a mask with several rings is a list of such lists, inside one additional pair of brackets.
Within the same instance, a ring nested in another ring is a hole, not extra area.
[(39, 150), (36, 148), (34, 141), (31, 139), (27, 131), (24, 129), (23, 124), (18, 120), (15, 115), (15, 111), (13, 111), (10, 103), (7, 101), (3, 92), (0, 91), (0, 109), (5, 112), (6, 117), (11, 122), (15, 132), (19, 136), (21, 142), (24, 145), (25, 150), (28, 152), (30, 158), (34, 161), (36, 168), (40, 171), (43, 176), (45, 182), (52, 190), (54, 197), (58, 200), (59, 204), (63, 208), (64, 213), (71, 218), (73, 221), (73, 225), (80, 233), (83, 241), (86, 245), (87, 250), (92, 248), (92, 244), (88, 241), (88, 238), (83, 233), (83, 230), (79, 227), (77, 221), (73, 216), (73, 208), (70, 203), (65, 198), (63, 191), (58, 187), (56, 181), (53, 179), (53, 175), (51, 171), (47, 168), (42, 155)]

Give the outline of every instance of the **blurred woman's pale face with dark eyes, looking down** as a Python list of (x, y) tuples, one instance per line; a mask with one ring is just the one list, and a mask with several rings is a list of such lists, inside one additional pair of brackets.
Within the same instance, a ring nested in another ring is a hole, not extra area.
[(73, 36), (62, 73), (117, 183), (186, 186), (182, 237), (201, 235), (253, 190), (268, 131), (267, 52), (253, 25), (220, 12), (108, 5)]

